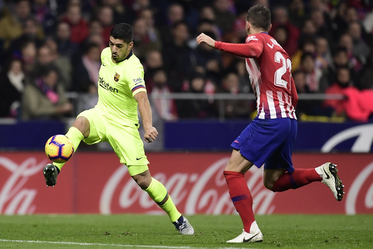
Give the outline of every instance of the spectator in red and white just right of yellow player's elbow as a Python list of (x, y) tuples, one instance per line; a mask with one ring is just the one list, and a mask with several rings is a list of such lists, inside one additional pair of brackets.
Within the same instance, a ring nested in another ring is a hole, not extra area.
[(153, 74), (153, 90), (151, 98), (160, 118), (172, 121), (178, 118), (176, 103), (173, 99), (163, 98), (169, 96), (170, 88), (167, 86), (167, 75), (163, 69), (158, 69)]

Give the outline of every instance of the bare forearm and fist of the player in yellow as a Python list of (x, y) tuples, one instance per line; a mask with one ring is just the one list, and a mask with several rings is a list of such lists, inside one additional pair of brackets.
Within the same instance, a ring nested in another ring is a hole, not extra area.
[(158, 131), (153, 127), (148, 95), (145, 91), (141, 91), (135, 94), (134, 98), (138, 103), (138, 108), (142, 119), (142, 126), (144, 127), (145, 131), (144, 140), (151, 143), (158, 136)]

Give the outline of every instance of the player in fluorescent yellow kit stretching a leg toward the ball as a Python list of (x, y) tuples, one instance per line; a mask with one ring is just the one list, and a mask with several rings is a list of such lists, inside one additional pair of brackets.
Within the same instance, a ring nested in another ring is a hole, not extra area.
[[(66, 136), (75, 152), (83, 140), (87, 144), (107, 141), (136, 183), (145, 190), (170, 217), (181, 234), (194, 234), (188, 220), (176, 209), (166, 188), (151, 177), (144, 144), (138, 132), (137, 107), (145, 130), (144, 140), (153, 142), (158, 132), (152, 124), (151, 108), (144, 83), (144, 69), (132, 53), (134, 31), (129, 24), (115, 25), (110, 31), (109, 46), (101, 52), (98, 102), (78, 115)], [(43, 174), (47, 186), (54, 186), (64, 164), (47, 164)]]

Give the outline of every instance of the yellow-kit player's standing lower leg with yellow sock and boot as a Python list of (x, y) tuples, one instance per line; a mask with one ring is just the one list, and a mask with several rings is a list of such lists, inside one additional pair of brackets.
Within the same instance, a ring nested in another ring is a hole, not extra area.
[(180, 234), (194, 234), (194, 228), (188, 219), (180, 214), (162, 183), (151, 177), (149, 187), (144, 190), (169, 215), (171, 222)]

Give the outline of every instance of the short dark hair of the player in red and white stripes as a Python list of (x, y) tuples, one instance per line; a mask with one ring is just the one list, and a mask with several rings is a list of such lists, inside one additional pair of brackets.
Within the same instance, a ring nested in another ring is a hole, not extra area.
[(269, 31), (271, 12), (266, 6), (255, 5), (247, 12), (246, 21), (250, 22), (254, 28)]

